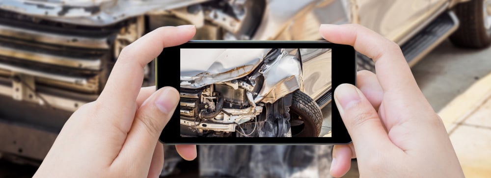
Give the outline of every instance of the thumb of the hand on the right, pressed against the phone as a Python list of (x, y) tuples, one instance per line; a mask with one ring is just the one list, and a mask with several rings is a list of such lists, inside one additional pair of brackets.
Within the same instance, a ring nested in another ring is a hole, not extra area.
[(336, 87), (334, 101), (351, 135), (358, 158), (393, 145), (377, 111), (354, 85), (345, 83)]

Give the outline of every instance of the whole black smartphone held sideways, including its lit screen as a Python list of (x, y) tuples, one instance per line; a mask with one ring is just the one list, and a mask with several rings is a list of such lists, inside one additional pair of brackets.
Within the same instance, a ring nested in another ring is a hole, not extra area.
[(332, 96), (355, 78), (354, 48), (326, 41), (190, 41), (165, 48), (156, 59), (156, 85), (179, 90), (180, 103), (160, 141), (348, 144)]

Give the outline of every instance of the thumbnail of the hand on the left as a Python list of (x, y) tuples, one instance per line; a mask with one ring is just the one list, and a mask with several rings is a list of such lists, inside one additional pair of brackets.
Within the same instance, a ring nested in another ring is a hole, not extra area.
[(157, 100), (155, 100), (155, 105), (163, 113), (170, 113), (177, 106), (177, 102), (179, 102), (179, 93), (176, 89), (164, 87)]

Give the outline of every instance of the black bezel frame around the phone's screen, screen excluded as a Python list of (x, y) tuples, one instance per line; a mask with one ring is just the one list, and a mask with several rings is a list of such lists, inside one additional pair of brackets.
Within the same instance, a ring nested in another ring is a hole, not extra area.
[[(180, 49), (189, 48), (316, 48), (332, 49), (332, 90), (342, 84), (355, 85), (356, 79), (356, 51), (352, 46), (329, 43), (327, 41), (190, 41), (188, 43), (164, 48), (156, 59), (156, 86), (172, 86), (180, 89), (180, 69), (169, 66), (163, 60), (180, 59)], [(161, 77), (159, 77), (161, 76)], [(170, 77), (175, 76), (175, 77)], [(334, 101), (331, 101), (334, 102)], [(332, 106), (331, 130), (332, 137), (181, 137), (179, 109), (174, 111), (159, 140), (169, 145), (181, 144), (218, 144), (218, 145), (250, 145), (250, 144), (348, 144), (351, 137), (348, 134), (336, 104)], [(171, 127), (175, 126), (175, 127)]]

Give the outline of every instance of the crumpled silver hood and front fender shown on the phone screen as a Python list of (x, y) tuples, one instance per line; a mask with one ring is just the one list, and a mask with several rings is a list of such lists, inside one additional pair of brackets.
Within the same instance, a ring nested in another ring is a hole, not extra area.
[[(271, 49), (181, 49), (181, 87), (201, 88), (250, 74)], [(295, 51), (297, 52), (297, 51)], [(283, 50), (258, 71), (264, 83), (254, 102), (273, 103), (300, 89), (300, 59)]]

